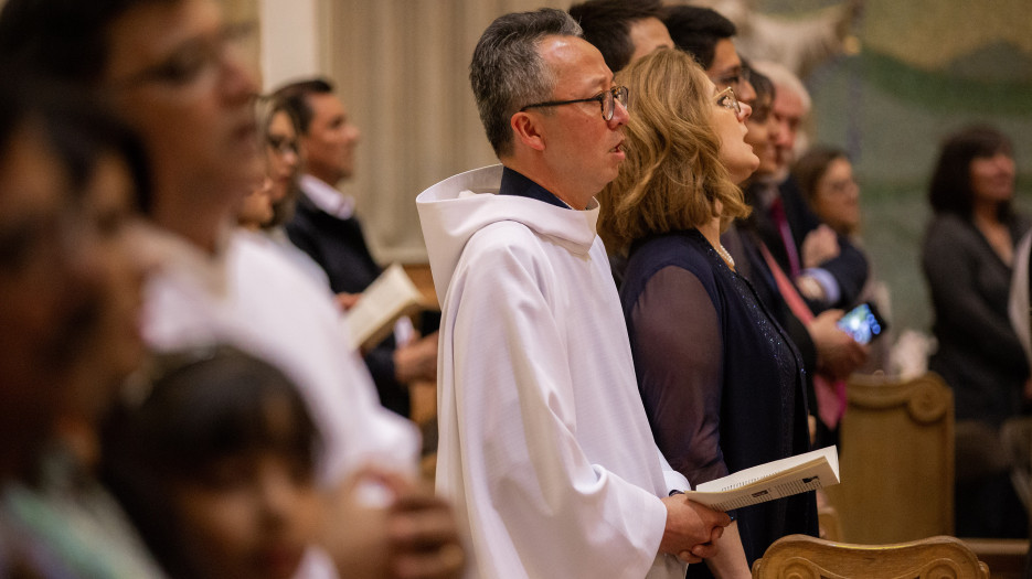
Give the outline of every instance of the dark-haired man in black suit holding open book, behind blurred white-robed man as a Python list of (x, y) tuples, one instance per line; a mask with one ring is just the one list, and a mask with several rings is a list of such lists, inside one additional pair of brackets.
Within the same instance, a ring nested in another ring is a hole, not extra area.
[[(326, 271), (342, 307), (350, 308), (381, 272), (354, 214), (354, 199), (336, 189), (354, 172), (360, 131), (325, 78), (300, 81), (276, 92), (299, 125), (306, 173), (287, 236)], [(403, 416), (411, 410), (408, 384), (437, 377), (437, 335), (414, 337), (404, 320), (392, 335), (365, 353), (380, 401)]]

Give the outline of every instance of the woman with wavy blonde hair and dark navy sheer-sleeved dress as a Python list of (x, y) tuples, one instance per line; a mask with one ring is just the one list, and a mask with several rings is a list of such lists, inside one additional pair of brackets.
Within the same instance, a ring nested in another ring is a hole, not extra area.
[[(720, 243), (749, 211), (735, 185), (759, 163), (743, 140), (749, 107), (678, 51), (617, 83), (632, 114), (599, 229), (628, 254), (620, 300), (659, 448), (692, 484), (809, 450), (798, 351)], [(817, 532), (813, 493), (733, 514), (721, 554), (689, 577), (748, 577), (778, 537)]]

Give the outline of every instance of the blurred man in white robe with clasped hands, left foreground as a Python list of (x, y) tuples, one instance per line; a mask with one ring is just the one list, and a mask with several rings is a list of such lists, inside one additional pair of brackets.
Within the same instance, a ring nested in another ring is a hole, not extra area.
[(372, 522), (364, 538), (389, 545), (387, 525), (376, 522), (402, 521), (426, 545), (393, 557), (459, 566), (460, 547), (428, 530), (451, 524), (446, 510), (398, 513), (389, 508), (403, 500), (396, 493), (350, 483), (372, 463), (409, 478), (406, 493), (424, 492), (418, 435), (379, 405), (332, 294), (267, 237), (233, 230), (233, 212), (260, 175), (257, 86), (237, 49), (247, 30), (226, 23), (213, 0), (9, 0), (0, 58), (93, 89), (141, 136), (158, 229), (149, 250), (159, 261), (145, 290), (148, 345), (228, 342), (283, 368), (319, 426), (320, 486), (355, 521)]

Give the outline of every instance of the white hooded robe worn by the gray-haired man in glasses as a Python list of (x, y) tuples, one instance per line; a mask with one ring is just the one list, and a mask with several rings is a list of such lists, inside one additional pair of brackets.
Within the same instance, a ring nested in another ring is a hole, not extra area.
[(416, 203), (437, 294), (437, 490), (480, 578), (684, 577), (657, 556), (688, 482), (652, 441), (587, 211), (497, 195), (502, 168)]

